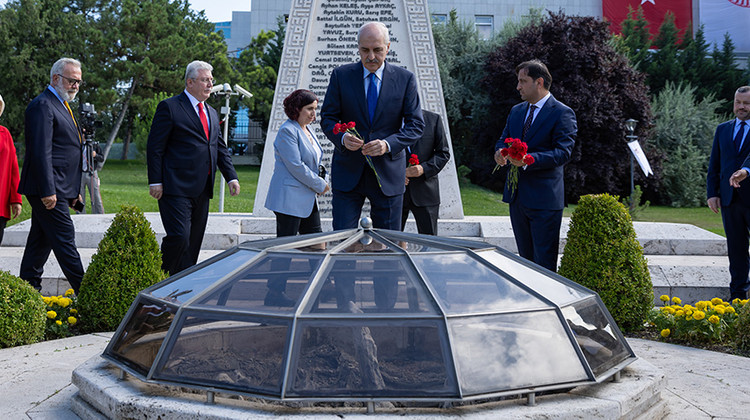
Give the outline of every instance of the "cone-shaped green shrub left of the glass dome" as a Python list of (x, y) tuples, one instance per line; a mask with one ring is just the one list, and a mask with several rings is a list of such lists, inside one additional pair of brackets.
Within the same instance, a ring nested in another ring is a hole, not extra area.
[(138, 207), (122, 206), (81, 282), (81, 330), (114, 331), (138, 292), (166, 277), (151, 224)]

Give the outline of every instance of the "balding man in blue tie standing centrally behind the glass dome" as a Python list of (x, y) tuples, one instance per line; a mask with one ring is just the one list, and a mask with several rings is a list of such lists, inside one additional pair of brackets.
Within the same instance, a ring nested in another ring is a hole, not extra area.
[[(390, 36), (384, 24), (365, 23), (357, 42), (361, 61), (333, 70), (320, 112), (321, 128), (335, 146), (333, 228), (356, 228), (367, 198), (374, 227), (400, 230), (406, 149), (424, 128), (417, 81), (410, 71), (386, 62)], [(333, 133), (335, 124), (350, 121), (364, 141)], [(372, 159), (381, 185), (365, 156)]]

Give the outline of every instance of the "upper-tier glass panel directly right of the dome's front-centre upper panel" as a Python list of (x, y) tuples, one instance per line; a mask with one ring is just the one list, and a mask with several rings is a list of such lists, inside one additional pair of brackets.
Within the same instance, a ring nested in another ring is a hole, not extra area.
[(447, 314), (549, 307), (465, 253), (412, 255), (412, 259)]

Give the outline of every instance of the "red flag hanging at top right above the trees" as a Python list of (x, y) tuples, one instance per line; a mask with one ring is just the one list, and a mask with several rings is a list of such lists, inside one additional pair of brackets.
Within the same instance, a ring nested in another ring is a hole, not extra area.
[[(643, 9), (643, 16), (648, 21), (651, 38), (659, 33), (659, 27), (667, 12), (674, 13), (675, 25), (682, 35), (693, 20), (693, 5), (691, 0), (602, 0), (602, 14), (610, 22), (610, 30), (619, 34), (622, 21), (628, 17), (628, 6), (634, 12), (638, 7)], [(636, 14), (633, 14), (636, 17)]]

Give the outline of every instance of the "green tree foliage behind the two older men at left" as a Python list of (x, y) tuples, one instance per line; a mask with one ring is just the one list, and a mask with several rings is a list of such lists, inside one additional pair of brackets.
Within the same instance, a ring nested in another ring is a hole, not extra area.
[(123, 121), (141, 118), (155, 94), (182, 90), (190, 61), (211, 63), (217, 79), (232, 77), (223, 38), (187, 0), (11, 0), (0, 10), (0, 65), (14, 75), (2, 92), (3, 123), (17, 140), (26, 104), (63, 56), (82, 63), (78, 102), (93, 103), (110, 131), (105, 156)]

